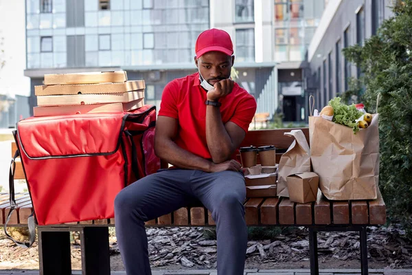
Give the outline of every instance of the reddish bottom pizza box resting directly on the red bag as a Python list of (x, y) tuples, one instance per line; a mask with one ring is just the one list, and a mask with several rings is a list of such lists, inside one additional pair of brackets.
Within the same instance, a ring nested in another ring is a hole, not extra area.
[(34, 107), (34, 116), (76, 115), (80, 113), (122, 113), (144, 106), (144, 98), (127, 103)]

